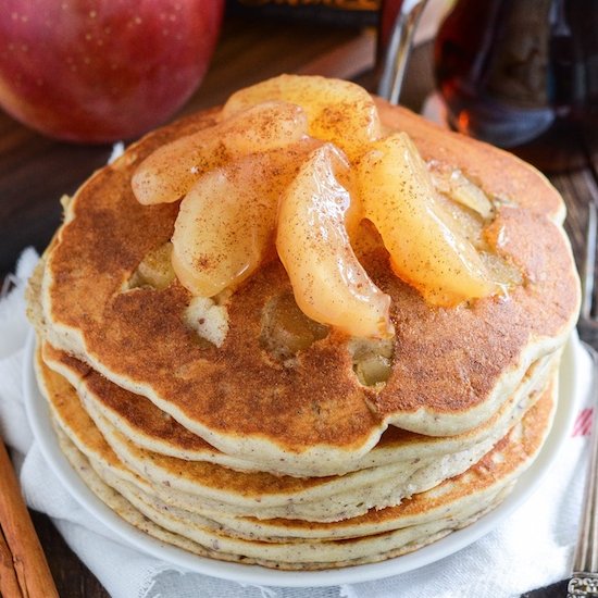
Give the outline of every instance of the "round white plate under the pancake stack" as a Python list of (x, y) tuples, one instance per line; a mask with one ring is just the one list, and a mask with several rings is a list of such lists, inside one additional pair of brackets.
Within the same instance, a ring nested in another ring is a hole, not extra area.
[(514, 509), (521, 506), (538, 486), (559, 450), (571, 433), (575, 406), (580, 403), (583, 389), (577, 384), (577, 351), (582, 350), (576, 336), (568, 342), (561, 365), (560, 400), (555, 424), (534, 464), (521, 476), (513, 491), (494, 511), (484, 515), (474, 524), (453, 532), (445, 538), (421, 548), (410, 555), (397, 557), (381, 563), (363, 564), (329, 571), (275, 571), (258, 565), (226, 563), (197, 557), (179, 548), (159, 541), (136, 530), (111, 511), (83, 483), (66, 458), (62, 454), (58, 439), (50, 423), (46, 400), (40, 395), (34, 373), (35, 338), (32, 334), (27, 342), (27, 358), (24, 369), (24, 389), (27, 415), (34, 436), (48, 464), (71, 493), (71, 495), (107, 527), (121, 536), (123, 540), (139, 550), (190, 571), (231, 580), (246, 584), (265, 586), (329, 586), (381, 580), (419, 569), (472, 544), (490, 532)]

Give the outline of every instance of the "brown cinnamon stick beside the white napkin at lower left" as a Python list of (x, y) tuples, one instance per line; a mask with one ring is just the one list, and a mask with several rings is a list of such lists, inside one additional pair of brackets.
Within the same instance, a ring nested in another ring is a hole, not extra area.
[[(0, 587), (4, 598), (58, 598), (52, 574), (29, 518), (4, 444), (0, 441), (0, 528), (8, 555), (2, 551)], [(3, 550), (0, 548), (0, 550)], [(10, 560), (9, 560), (10, 559)], [(14, 594), (12, 562), (20, 594)], [(4, 588), (4, 582), (7, 588)], [(9, 591), (9, 585), (13, 584)]]

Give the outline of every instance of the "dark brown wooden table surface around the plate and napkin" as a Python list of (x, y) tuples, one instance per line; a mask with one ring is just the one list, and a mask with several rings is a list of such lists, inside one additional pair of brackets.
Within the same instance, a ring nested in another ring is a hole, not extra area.
[[(227, 18), (211, 70), (182, 113), (219, 104), (239, 87), (285, 72), (352, 78), (372, 89), (374, 48), (371, 30)], [(419, 109), (433, 87), (431, 55), (431, 45), (413, 53), (401, 99), (410, 108)], [(14, 267), (24, 247), (33, 245), (43, 250), (60, 223), (61, 195), (75, 191), (94, 170), (105, 163), (110, 152), (109, 146), (74, 146), (47, 139), (0, 111), (0, 272), (3, 275)], [(566, 226), (575, 256), (580, 258), (587, 202), (593, 195), (598, 199), (591, 157), (585, 170), (550, 178), (566, 200)], [(60, 595), (108, 596), (66, 547), (49, 519), (34, 513), (34, 522)], [(559, 584), (534, 597), (562, 596), (563, 590), (563, 584)]]

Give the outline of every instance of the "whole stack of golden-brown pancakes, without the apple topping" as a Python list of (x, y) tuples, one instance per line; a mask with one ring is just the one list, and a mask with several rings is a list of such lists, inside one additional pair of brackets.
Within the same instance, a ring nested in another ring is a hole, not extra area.
[(220, 347), (187, 325), (192, 297), (176, 278), (132, 284), (177, 215), (176, 203), (139, 204), (132, 175), (217, 111), (147, 136), (65, 202), (29, 286), (38, 382), (74, 468), (148, 534), (279, 569), (374, 562), (478, 519), (541, 448), (580, 300), (562, 200), (504, 152), (378, 112), (428, 163), (478, 184), (522, 273), (508, 295), (438, 308), (379, 248), (364, 251), (391, 298), (383, 383), (360, 379), (353, 340), (334, 329), (292, 359), (270, 350), (265, 307), (292, 295), (275, 259), (227, 297)]

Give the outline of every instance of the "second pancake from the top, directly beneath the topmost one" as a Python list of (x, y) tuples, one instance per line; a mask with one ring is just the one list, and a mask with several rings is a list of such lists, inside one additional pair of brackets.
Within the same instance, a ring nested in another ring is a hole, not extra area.
[[(88, 410), (102, 416), (138, 447), (178, 459), (208, 461), (236, 471), (260, 471), (251, 461), (232, 458), (211, 447), (171, 416), (160, 411), (151, 401), (120, 388), (83, 362), (48, 342), (42, 345), (45, 363), (65, 376), (83, 397)], [(558, 364), (559, 354), (547, 356), (530, 367), (524, 381), (502, 409), (484, 424), (457, 437), (431, 437), (401, 431), (391, 426), (379, 443), (366, 456), (351, 463), (351, 470), (387, 465), (390, 463), (440, 458), (466, 450), (488, 436), (501, 437), (532, 404), (534, 391), (543, 388), (551, 371)], [(276, 462), (262, 463), (262, 471), (282, 474)], [(323, 466), (317, 475), (322, 473)], [(338, 474), (348, 472), (341, 471)], [(306, 472), (309, 474), (309, 472)]]

